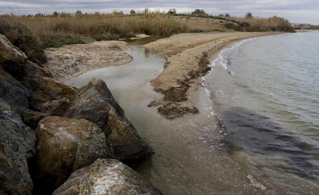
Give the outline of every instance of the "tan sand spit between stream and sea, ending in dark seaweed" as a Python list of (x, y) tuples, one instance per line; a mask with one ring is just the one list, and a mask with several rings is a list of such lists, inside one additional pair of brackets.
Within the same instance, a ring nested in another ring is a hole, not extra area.
[(236, 41), (259, 36), (276, 35), (278, 32), (231, 32), (178, 34), (145, 45), (166, 59), (164, 71), (152, 80), (156, 92), (164, 95), (151, 105), (159, 105), (158, 111), (173, 119), (187, 113), (198, 113), (189, 96), (201, 85), (200, 77), (220, 52)]

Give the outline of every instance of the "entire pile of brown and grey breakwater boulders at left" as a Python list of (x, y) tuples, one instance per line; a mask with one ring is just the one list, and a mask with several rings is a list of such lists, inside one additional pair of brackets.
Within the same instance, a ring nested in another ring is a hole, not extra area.
[(105, 82), (64, 85), (2, 35), (0, 129), (1, 194), (161, 194), (123, 164), (153, 151)]

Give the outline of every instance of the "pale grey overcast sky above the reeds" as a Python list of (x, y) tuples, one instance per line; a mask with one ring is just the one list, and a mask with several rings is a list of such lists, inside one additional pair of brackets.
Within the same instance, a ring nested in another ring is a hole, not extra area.
[(144, 8), (190, 12), (195, 8), (209, 14), (229, 13), (243, 16), (252, 12), (254, 16), (278, 15), (291, 22), (319, 24), (319, 0), (0, 0), (0, 14), (35, 14), (54, 11), (109, 12), (113, 10), (129, 12)]

